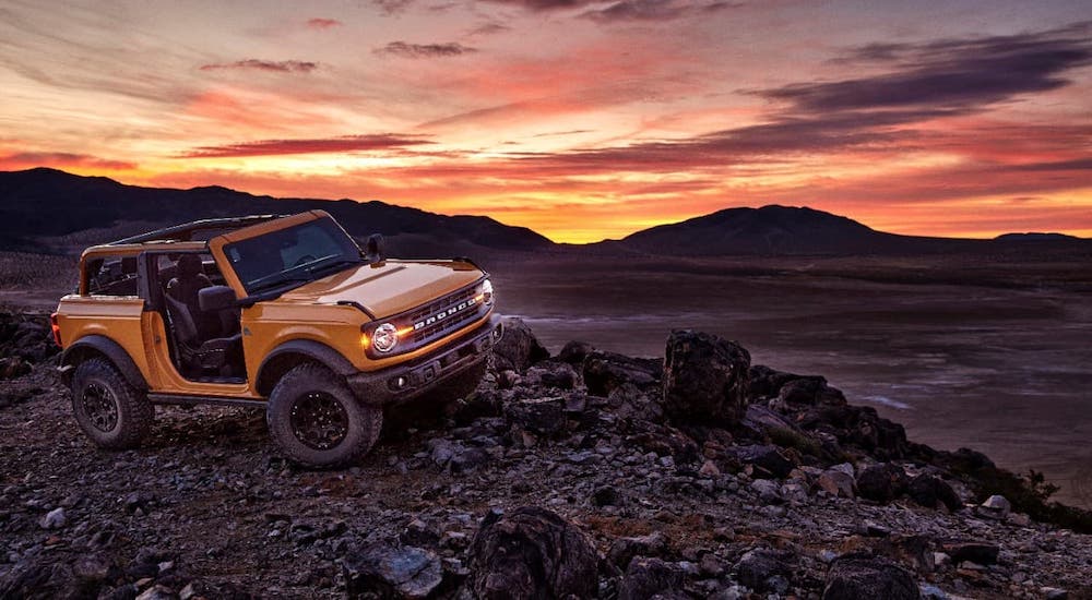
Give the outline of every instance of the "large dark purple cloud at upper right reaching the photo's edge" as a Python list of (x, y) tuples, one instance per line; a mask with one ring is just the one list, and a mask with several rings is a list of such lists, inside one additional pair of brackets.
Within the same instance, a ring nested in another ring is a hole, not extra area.
[(793, 84), (759, 92), (803, 112), (910, 106), (984, 108), (1014, 96), (1069, 84), (1067, 71), (1092, 64), (1092, 27), (928, 44), (874, 44), (848, 61), (893, 70), (868, 77)]

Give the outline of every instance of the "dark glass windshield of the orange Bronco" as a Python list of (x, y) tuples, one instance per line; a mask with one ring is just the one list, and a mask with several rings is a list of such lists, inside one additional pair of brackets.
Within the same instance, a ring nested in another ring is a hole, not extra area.
[(356, 242), (331, 218), (229, 243), (224, 253), (248, 295), (296, 287), (363, 262)]

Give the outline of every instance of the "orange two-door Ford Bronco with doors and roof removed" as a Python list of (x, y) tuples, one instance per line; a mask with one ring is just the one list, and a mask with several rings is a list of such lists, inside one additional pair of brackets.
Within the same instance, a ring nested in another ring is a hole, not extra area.
[(465, 395), (502, 335), (466, 259), (387, 260), (327, 213), (206, 219), (88, 248), (52, 314), (72, 408), (127, 448), (157, 404), (261, 407), (290, 459), (345, 465), (383, 410)]

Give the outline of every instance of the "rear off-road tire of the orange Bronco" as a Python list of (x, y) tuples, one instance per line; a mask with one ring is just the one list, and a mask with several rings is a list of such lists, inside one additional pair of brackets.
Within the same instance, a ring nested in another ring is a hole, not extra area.
[(96, 445), (126, 449), (140, 445), (151, 431), (155, 408), (117, 368), (93, 358), (81, 362), (72, 375), (72, 413)]

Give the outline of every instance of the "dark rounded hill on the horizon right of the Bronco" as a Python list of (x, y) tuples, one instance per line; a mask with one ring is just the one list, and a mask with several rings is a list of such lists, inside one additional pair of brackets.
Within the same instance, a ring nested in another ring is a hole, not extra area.
[[(1007, 242), (1011, 241), (1013, 238), (1009, 236), (997, 240), (899, 236), (814, 208), (769, 205), (761, 208), (726, 208), (681, 223), (652, 227), (618, 241), (605, 242), (603, 250), (665, 255), (934, 254), (1004, 251), (1010, 245)], [(1048, 241), (1089, 245), (1087, 240), (1069, 236), (1052, 237)]]

